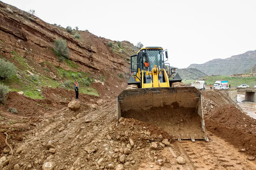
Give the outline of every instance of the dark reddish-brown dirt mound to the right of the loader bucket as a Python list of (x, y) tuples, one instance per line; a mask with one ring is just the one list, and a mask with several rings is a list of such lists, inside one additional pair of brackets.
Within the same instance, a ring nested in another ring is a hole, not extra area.
[(222, 105), (205, 119), (206, 129), (256, 155), (256, 120), (233, 105)]

